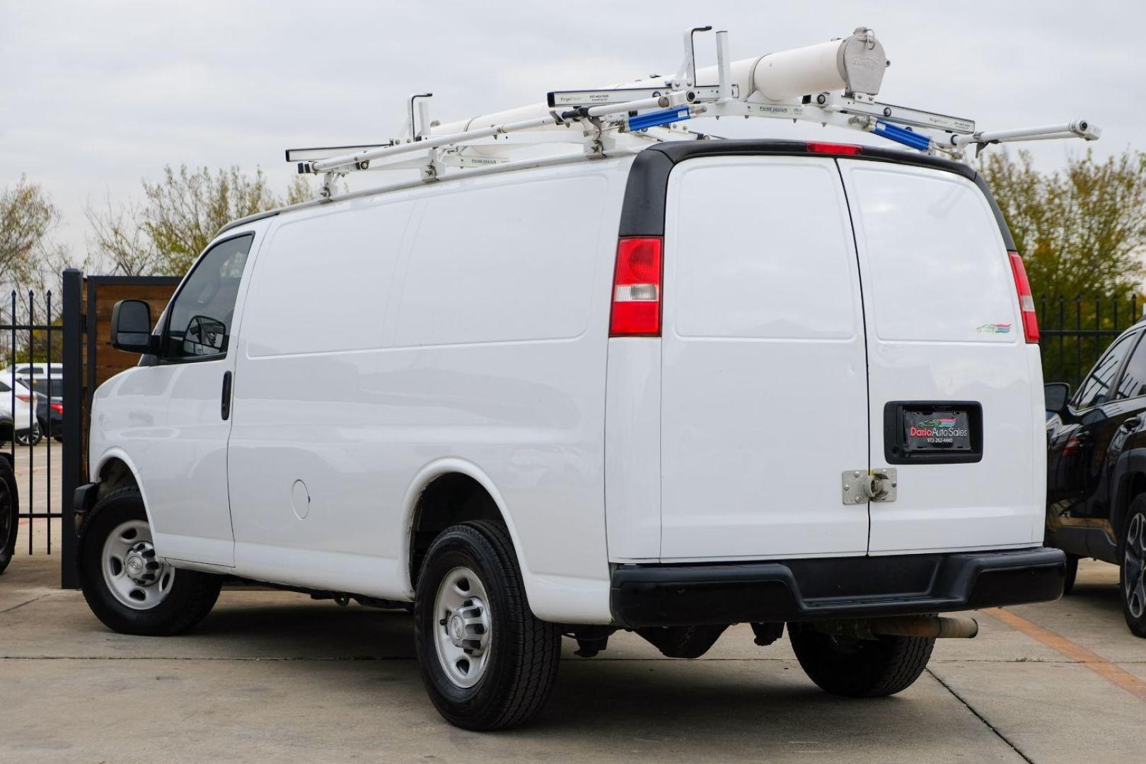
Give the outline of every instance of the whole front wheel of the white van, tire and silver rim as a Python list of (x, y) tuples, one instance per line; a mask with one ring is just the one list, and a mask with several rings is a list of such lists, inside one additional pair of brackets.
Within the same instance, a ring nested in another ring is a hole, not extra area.
[(211, 612), (222, 582), (209, 573), (175, 570), (156, 557), (135, 488), (96, 502), (80, 528), (77, 567), (84, 599), (95, 616), (128, 635), (187, 631)]

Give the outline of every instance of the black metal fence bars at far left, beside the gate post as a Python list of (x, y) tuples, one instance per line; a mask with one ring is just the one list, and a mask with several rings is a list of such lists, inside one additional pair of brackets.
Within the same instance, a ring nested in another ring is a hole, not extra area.
[[(50, 291), (13, 290), (10, 297), (0, 308), (0, 322), (6, 322), (0, 323), (0, 447), (9, 451), (21, 494), (16, 522), (26, 539), (19, 543), (36, 553), (42, 529), (45, 551), (52, 554), (53, 546), (58, 548), (52, 521), (63, 518), (58, 486), (53, 483), (53, 443), (63, 439), (64, 328)], [(55, 460), (58, 481), (58, 456)]]

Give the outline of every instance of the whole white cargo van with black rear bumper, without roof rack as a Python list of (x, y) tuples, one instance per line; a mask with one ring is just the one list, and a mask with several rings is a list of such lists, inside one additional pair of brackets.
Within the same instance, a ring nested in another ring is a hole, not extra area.
[(1050, 600), (1037, 326), (965, 165), (668, 142), (236, 221), (95, 393), (84, 592), (183, 631), (225, 576), (410, 607), (433, 703), (544, 702), (562, 637), (786, 623), (898, 692), (940, 612)]

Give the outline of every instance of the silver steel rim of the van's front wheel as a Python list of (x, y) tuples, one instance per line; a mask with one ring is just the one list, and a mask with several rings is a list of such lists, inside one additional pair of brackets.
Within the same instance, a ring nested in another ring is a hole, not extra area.
[(151, 528), (143, 520), (116, 526), (103, 542), (101, 560), (108, 589), (133, 611), (150, 611), (162, 602), (175, 581), (175, 569), (156, 559)]

